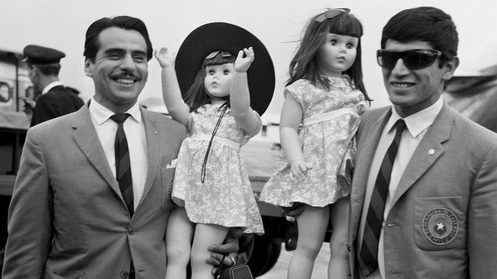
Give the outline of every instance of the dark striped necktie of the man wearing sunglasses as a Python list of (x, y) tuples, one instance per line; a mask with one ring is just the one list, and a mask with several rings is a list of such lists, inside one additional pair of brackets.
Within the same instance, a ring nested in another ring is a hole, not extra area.
[(358, 259), (361, 269), (366, 276), (369, 276), (378, 268), (378, 241), (380, 239), (381, 224), (383, 223), (383, 212), (385, 211), (385, 202), (389, 191), (392, 166), (394, 165), (404, 128), (404, 119), (399, 119), (395, 122), (395, 138), (388, 150), (386, 150), (385, 157), (381, 162), (369, 203), (363, 243)]

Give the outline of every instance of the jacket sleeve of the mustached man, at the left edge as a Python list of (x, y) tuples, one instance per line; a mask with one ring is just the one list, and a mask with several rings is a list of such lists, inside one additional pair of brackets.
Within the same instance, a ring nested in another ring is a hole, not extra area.
[(52, 191), (45, 158), (28, 130), (12, 201), (3, 278), (42, 278), (52, 240)]

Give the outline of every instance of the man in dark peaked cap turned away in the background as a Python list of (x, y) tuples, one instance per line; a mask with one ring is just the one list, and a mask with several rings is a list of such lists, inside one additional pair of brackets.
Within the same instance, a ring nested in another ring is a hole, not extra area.
[[(74, 90), (64, 87), (59, 80), (60, 60), (66, 56), (64, 52), (37, 45), (28, 45), (23, 52), (35, 92), (41, 92), (33, 108), (31, 127), (82, 107), (84, 103)], [(30, 105), (27, 100), (25, 102)]]

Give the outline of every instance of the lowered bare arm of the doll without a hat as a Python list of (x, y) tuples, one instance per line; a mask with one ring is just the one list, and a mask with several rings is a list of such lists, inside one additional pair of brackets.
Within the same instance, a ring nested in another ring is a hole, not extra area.
[(297, 133), (302, 121), (302, 115), (300, 105), (293, 99), (291, 94), (287, 94), (281, 111), (280, 140), (285, 157), (291, 166), (292, 174), (298, 180), (305, 179), (307, 171), (312, 169), (312, 165), (303, 158), (302, 147)]

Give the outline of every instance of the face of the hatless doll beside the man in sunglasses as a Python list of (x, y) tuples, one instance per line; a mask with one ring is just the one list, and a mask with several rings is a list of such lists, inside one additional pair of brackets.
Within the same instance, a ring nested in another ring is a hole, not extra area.
[(326, 34), (326, 40), (317, 52), (319, 74), (339, 77), (355, 60), (359, 39), (335, 33)]

